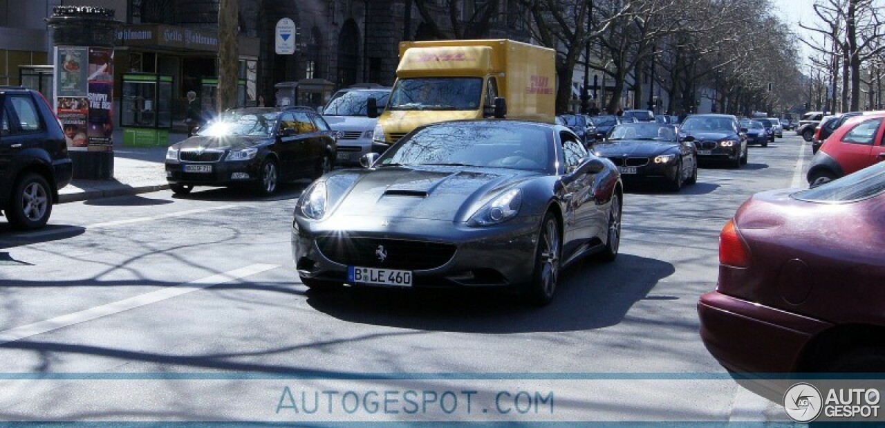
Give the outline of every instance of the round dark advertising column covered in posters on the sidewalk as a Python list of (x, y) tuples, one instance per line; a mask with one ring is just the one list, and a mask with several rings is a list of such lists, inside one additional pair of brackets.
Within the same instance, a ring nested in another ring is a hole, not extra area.
[(113, 46), (119, 21), (111, 9), (54, 6), (53, 106), (65, 128), (73, 178), (113, 178)]

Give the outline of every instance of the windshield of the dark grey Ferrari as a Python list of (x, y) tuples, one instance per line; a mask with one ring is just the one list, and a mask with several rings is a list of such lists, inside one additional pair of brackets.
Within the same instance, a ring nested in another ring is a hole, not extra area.
[(419, 129), (384, 152), (381, 166), (453, 165), (548, 172), (553, 130), (547, 126), (447, 122)]

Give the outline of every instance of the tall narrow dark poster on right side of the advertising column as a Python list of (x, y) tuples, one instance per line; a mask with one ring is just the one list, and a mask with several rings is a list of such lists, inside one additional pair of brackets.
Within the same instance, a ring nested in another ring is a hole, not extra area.
[(89, 48), (89, 150), (113, 150), (113, 50)]

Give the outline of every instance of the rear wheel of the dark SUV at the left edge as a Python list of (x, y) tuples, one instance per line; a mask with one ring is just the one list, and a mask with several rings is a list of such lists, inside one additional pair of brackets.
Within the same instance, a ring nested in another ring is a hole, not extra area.
[(41, 175), (29, 173), (19, 180), (12, 192), (6, 217), (17, 229), (39, 229), (50, 219), (52, 194), (50, 185)]

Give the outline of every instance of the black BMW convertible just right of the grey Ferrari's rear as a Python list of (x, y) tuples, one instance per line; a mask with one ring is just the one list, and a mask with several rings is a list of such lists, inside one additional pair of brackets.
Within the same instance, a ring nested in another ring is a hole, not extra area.
[(697, 149), (692, 141), (678, 141), (672, 125), (628, 123), (615, 126), (593, 154), (618, 166), (621, 179), (666, 184), (674, 192), (682, 183), (697, 182)]

